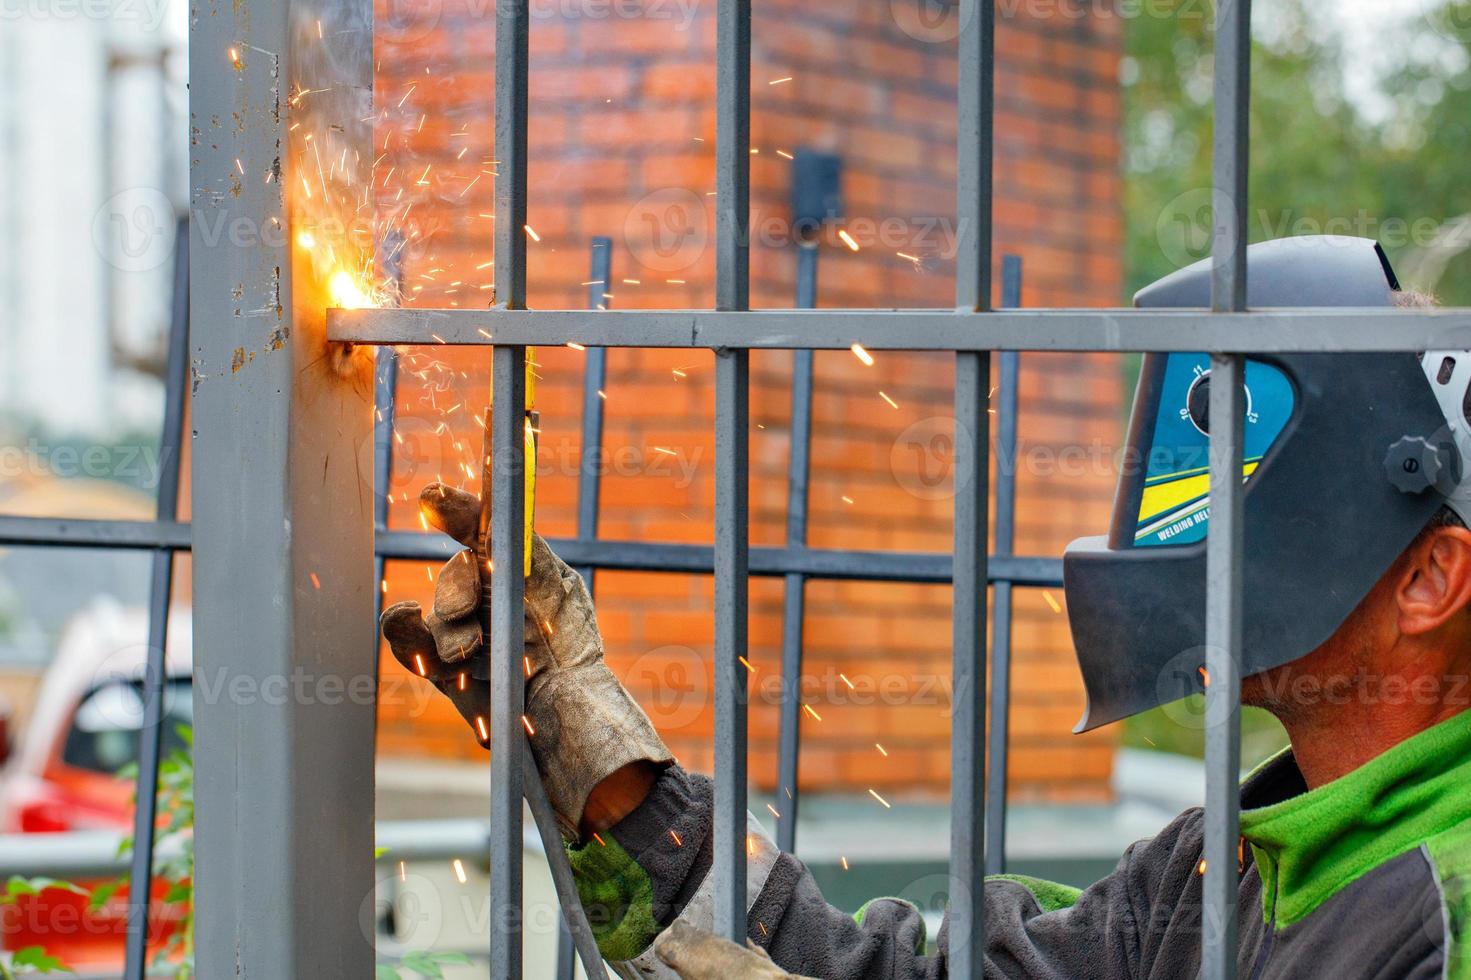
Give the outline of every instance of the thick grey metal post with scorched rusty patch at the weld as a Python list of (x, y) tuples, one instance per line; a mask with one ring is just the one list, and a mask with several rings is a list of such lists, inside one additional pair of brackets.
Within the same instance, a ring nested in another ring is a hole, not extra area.
[(284, 147), (312, 88), (334, 144), (372, 159), (372, 4), (204, 3), (190, 78), (197, 971), (363, 977), (372, 359), (331, 356), (294, 275)]

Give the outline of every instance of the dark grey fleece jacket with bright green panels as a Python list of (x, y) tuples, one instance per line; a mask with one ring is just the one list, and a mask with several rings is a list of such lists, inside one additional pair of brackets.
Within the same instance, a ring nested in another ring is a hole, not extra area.
[[(677, 917), (709, 926), (709, 780), (678, 767), (610, 833), (572, 849), (603, 954), (628, 977), (669, 976), (650, 952)], [(1240, 976), (1471, 979), (1471, 712), (1308, 790), (1290, 753), (1242, 787)], [(1078, 890), (1019, 876), (986, 884), (993, 977), (1196, 976), (1199, 809)], [(747, 931), (787, 971), (827, 980), (946, 976), (919, 911), (828, 905), (800, 861), (755, 837)]]

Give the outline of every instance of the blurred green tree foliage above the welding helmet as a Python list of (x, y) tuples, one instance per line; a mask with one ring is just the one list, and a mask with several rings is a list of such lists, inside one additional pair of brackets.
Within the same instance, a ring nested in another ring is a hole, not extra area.
[[(1143, 9), (1122, 68), (1130, 293), (1205, 258), (1211, 234), (1212, 6)], [(1406, 285), (1468, 303), (1471, 219), (1456, 219), (1471, 213), (1471, 0), (1405, 4), (1374, 65), (1349, 63), (1342, 16), (1306, 0), (1256, 7), (1249, 237), (1372, 237)]]

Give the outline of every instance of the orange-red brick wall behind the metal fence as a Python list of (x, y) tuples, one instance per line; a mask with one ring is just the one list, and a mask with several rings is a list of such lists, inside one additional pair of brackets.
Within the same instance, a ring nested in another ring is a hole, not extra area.
[[(859, 244), (852, 252), (836, 238), (824, 243), (819, 305), (953, 303), (953, 25), (916, 26), (916, 1), (755, 4), (753, 305), (791, 305), (794, 256), (783, 224), (790, 163), (778, 152), (799, 147), (843, 157), (846, 219), (834, 231), (850, 230)], [(396, 21), (380, 10), (377, 194), (381, 213), (410, 230), (405, 302), (418, 306), (484, 305), (490, 293), (481, 287), (493, 280), (494, 18), (488, 0), (446, 3), (418, 16), (410, 7)], [(685, 24), (674, 0), (533, 4), (533, 306), (585, 303), (593, 235), (613, 238), (612, 305), (713, 305), (713, 6), (697, 1)], [(618, 15), (630, 10), (643, 13)], [(1031, 306), (1119, 299), (1116, 28), (1114, 19), (1021, 15), (999, 28), (996, 243), (997, 255), (1024, 258)], [(674, 224), (655, 240), (650, 221)], [(418, 516), (403, 494), (412, 500), (437, 474), (460, 480), (474, 462), (466, 406), (484, 403), (487, 359), (440, 349), (406, 355), (422, 377), (406, 375), (399, 394), (406, 461), (394, 478), (394, 521), (412, 527)], [(569, 349), (537, 355), (538, 527), (552, 536), (574, 530), (583, 358)], [(790, 363), (788, 353), (752, 359), (755, 543), (784, 536)], [(812, 544), (950, 547), (946, 487), (931, 490), (922, 477), (946, 474), (952, 377), (949, 356), (880, 355), (863, 366), (847, 352), (818, 355)], [(1106, 358), (1024, 358), (1021, 552), (1059, 553), (1105, 525), (1108, 465), (1083, 452), (1083, 464), (1069, 466), (1071, 456), (1059, 462), (1056, 453), (1116, 440), (1119, 377)], [(605, 537), (710, 540), (710, 381), (708, 353), (610, 352)], [(388, 599), (422, 599), (427, 589), (422, 568), (396, 567)], [(597, 590), (613, 668), (681, 759), (709, 767), (709, 580), (603, 572)], [(944, 792), (949, 605), (943, 587), (809, 584), (806, 700), (821, 721), (803, 720), (806, 787)], [(780, 581), (753, 581), (756, 692), (777, 671), (780, 619)], [(1112, 737), (1068, 734), (1081, 687), (1064, 618), (1039, 592), (1016, 593), (1015, 643), (1014, 789), (1105, 798)], [(384, 670), (400, 672), (391, 661)], [(416, 712), (402, 702), (382, 712), (381, 752), (474, 753), (452, 711)], [(769, 787), (774, 697), (753, 696), (750, 748), (752, 777)]]

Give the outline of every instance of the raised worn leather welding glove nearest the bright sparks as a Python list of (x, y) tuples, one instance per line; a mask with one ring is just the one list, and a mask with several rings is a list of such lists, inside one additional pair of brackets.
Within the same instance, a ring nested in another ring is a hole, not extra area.
[[(419, 506), (430, 524), (466, 550), (440, 569), (428, 617), (418, 602), (400, 602), (384, 611), (382, 634), (394, 658), (430, 678), (487, 746), (490, 671), (480, 608), (485, 600), (481, 574), (488, 577), (488, 571), (474, 550), (480, 497), (434, 483), (419, 494)], [(603, 662), (603, 637), (583, 577), (541, 536), (531, 542), (525, 602), (531, 750), (563, 836), (578, 840), (587, 798), (599, 783), (634, 762), (663, 767), (674, 756)]]

